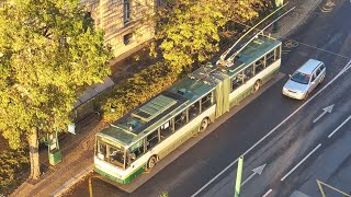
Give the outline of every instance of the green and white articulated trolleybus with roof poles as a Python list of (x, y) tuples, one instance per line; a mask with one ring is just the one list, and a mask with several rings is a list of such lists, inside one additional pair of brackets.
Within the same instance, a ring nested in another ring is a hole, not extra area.
[[(233, 54), (233, 53), (231, 53)], [(127, 184), (279, 72), (281, 42), (256, 35), (97, 134), (94, 171)]]

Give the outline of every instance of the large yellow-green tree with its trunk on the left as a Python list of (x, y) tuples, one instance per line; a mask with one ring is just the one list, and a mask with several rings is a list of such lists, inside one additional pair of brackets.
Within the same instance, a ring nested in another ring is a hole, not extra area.
[(11, 148), (30, 146), (39, 176), (37, 134), (67, 128), (82, 91), (111, 71), (111, 48), (79, 0), (2, 0), (0, 131)]

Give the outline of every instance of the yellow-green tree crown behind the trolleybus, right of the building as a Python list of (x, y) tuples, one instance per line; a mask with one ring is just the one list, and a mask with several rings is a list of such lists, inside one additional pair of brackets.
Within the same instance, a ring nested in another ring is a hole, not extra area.
[(211, 59), (219, 50), (219, 32), (233, 20), (258, 16), (260, 0), (178, 0), (159, 9), (156, 38), (177, 71)]

